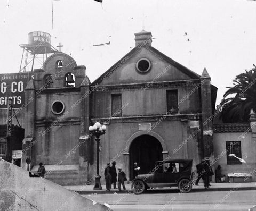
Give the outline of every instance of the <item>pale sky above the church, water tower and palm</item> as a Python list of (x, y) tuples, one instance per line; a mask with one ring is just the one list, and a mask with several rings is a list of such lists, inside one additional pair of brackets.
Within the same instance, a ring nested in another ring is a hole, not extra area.
[(19, 45), (31, 31), (50, 33), (54, 47), (61, 42), (91, 82), (135, 47), (134, 33), (150, 31), (165, 55), (199, 75), (206, 67), (217, 104), (236, 75), (256, 64), (256, 1), (59, 0), (53, 19), (52, 29), (51, 0), (0, 1), (0, 73), (19, 72)]

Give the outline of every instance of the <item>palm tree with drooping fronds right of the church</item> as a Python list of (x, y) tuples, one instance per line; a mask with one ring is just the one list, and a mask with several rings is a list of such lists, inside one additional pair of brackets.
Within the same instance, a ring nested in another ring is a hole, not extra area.
[(256, 66), (253, 66), (252, 70), (236, 76), (234, 87), (227, 87), (220, 103), (224, 123), (249, 122), (251, 109), (256, 110)]

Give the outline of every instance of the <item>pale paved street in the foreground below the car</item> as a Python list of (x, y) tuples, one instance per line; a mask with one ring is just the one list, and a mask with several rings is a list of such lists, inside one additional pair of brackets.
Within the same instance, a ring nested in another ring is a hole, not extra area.
[[(82, 195), (94, 201), (108, 203), (117, 210), (248, 210), (256, 205), (256, 190), (191, 191), (179, 194), (173, 190), (149, 190), (142, 195), (94, 194)], [(226, 198), (226, 200), (224, 200)], [(220, 202), (220, 200), (222, 200)], [(219, 205), (216, 204), (219, 202)]]

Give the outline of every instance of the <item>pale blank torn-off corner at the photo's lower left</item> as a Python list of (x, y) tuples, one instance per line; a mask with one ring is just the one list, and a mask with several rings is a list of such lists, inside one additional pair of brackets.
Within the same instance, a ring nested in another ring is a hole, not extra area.
[(111, 210), (44, 178), (0, 159), (0, 210)]

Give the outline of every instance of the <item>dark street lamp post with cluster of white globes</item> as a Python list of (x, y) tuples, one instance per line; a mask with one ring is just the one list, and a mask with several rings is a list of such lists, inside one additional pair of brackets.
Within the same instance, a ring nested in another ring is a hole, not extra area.
[(96, 122), (93, 126), (89, 126), (89, 131), (95, 136), (96, 141), (96, 151), (97, 151), (97, 173), (95, 176), (95, 185), (93, 190), (102, 190), (102, 186), (100, 183), (100, 156), (99, 156), (99, 145), (100, 145), (100, 136), (105, 134), (107, 127), (105, 125), (101, 125), (99, 122)]

